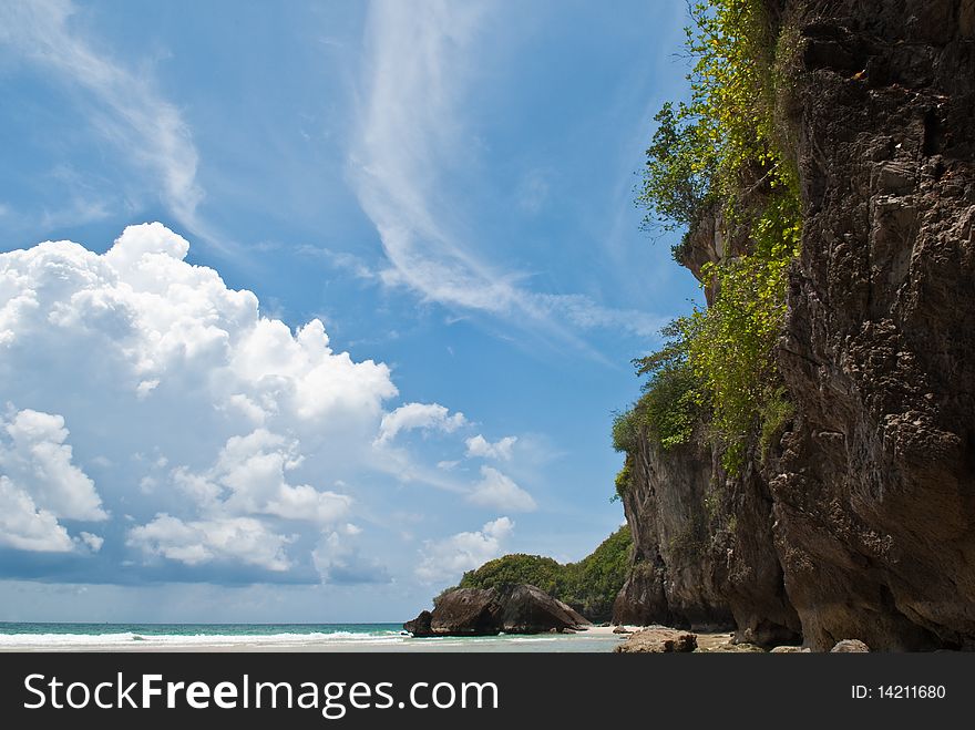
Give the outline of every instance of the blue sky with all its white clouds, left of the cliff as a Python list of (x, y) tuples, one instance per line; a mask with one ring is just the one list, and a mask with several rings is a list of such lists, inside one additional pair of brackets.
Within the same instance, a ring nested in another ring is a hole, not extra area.
[(0, 0), (0, 620), (402, 621), (623, 522), (682, 3)]

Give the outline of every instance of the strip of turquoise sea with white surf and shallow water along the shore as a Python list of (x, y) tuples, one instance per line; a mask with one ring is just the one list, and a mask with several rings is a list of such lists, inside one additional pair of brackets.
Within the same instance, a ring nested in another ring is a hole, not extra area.
[(412, 638), (400, 624), (14, 624), (0, 651), (612, 651), (619, 637), (579, 634)]

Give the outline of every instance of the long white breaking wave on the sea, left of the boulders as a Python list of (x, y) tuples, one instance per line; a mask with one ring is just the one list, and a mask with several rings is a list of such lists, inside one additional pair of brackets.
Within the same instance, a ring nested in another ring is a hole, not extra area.
[(309, 644), (398, 644), (407, 637), (398, 631), (353, 633), (332, 631), (329, 634), (136, 634), (121, 631), (112, 634), (0, 634), (0, 648), (3, 647), (79, 647), (79, 646), (295, 646)]

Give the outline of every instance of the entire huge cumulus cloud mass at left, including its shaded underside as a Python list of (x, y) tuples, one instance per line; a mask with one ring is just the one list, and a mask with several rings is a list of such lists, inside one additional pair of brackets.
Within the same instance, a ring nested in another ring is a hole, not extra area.
[(34, 409), (0, 424), (3, 544), (104, 555), (59, 518), (105, 520), (106, 496), (134, 516), (125, 545), (150, 557), (310, 565), (291, 536), (348, 521), (352, 497), (322, 485), (361, 473), (383, 417), (387, 438), (464, 422), (435, 404), (387, 413), (387, 366), (333, 351), (317, 319), (291, 330), (261, 316), (188, 250), (155, 223), (105, 254), (71, 241), (0, 254), (0, 402)]

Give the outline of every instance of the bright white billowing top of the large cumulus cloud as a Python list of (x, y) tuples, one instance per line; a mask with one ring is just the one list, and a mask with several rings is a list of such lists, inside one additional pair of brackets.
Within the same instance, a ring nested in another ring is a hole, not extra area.
[(136, 399), (188, 385), (229, 418), (258, 422), (378, 417), (396, 395), (384, 364), (332, 352), (317, 319), (291, 332), (261, 317), (254, 294), (186, 264), (188, 248), (154, 223), (130, 226), (104, 255), (71, 241), (2, 254), (0, 342), (37, 356), (40, 339), (75, 363), (80, 346), (98, 346), (106, 370), (122, 378), (117, 389)]

